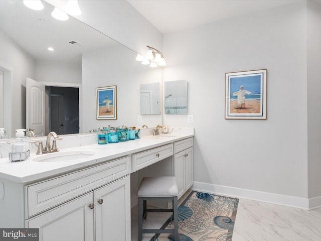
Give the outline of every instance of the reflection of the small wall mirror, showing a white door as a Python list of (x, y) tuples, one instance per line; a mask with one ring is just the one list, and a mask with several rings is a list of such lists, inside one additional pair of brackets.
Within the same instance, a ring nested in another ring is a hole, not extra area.
[(161, 114), (160, 83), (140, 85), (140, 114)]

